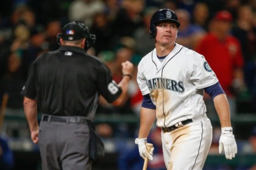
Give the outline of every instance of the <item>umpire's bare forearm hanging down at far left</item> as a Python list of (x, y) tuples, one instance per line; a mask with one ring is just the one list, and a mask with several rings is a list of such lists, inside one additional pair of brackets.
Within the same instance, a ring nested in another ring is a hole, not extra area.
[(37, 101), (24, 97), (23, 106), (30, 131), (37, 131)]

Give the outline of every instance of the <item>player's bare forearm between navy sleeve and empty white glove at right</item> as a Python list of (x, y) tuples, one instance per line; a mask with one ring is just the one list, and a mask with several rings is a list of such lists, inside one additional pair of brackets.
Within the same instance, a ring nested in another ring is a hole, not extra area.
[(225, 94), (217, 95), (213, 102), (215, 104), (215, 109), (219, 116), (219, 121), (221, 123), (221, 127), (230, 127), (230, 109), (229, 102), (227, 101), (227, 97)]

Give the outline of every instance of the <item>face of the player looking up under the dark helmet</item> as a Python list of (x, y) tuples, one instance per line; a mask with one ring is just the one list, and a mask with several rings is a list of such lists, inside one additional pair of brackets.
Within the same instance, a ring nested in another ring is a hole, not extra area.
[(157, 35), (155, 41), (157, 44), (165, 46), (173, 44), (177, 38), (177, 25), (171, 22), (163, 22), (157, 25)]

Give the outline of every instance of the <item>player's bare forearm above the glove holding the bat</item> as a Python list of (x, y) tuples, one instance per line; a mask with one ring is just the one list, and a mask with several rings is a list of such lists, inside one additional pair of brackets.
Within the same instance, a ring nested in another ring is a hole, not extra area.
[(141, 107), (140, 112), (140, 130), (138, 134), (138, 138), (146, 138), (149, 135), (149, 131), (152, 127), (152, 124), (155, 121), (155, 110), (147, 109)]

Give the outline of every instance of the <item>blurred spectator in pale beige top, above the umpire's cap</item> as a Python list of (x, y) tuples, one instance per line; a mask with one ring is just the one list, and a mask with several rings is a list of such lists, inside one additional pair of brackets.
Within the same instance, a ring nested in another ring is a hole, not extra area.
[(93, 16), (104, 12), (105, 4), (100, 0), (74, 0), (68, 8), (69, 21), (84, 22), (87, 27), (93, 24)]

